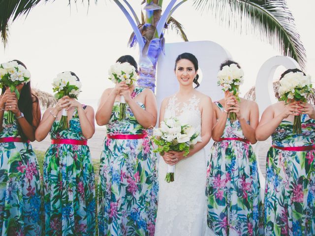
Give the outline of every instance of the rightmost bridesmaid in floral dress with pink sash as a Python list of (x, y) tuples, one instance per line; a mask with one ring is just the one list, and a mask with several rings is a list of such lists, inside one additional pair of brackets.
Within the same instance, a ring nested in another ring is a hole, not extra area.
[[(280, 80), (289, 72), (286, 70)], [(303, 73), (304, 74), (304, 73)], [(305, 75), (305, 74), (304, 74)], [(293, 134), (301, 114), (302, 133)], [(315, 109), (309, 103), (281, 101), (269, 106), (256, 129), (257, 140), (272, 138), (267, 154), (265, 233), (315, 235)]]

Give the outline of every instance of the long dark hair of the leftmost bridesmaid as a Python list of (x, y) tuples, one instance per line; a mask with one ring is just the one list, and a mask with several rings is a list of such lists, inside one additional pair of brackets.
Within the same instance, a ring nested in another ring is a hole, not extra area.
[[(19, 60), (12, 60), (16, 61), (19, 65), (23, 65), (25, 69), (27, 69), (26, 65), (19, 61)], [(1, 94), (5, 92), (5, 87), (2, 88)], [(24, 118), (32, 125), (33, 123), (33, 103), (38, 103), (38, 98), (32, 94), (31, 90), (31, 81), (29, 81), (27, 84), (24, 84), (23, 88), (20, 92), (20, 99), (18, 100), (18, 107), (19, 110), (24, 114)], [(26, 136), (24, 135), (22, 128), (17, 122), (18, 126), (18, 135), (21, 136), (22, 139), (27, 140)], [(34, 127), (35, 128), (35, 127)]]

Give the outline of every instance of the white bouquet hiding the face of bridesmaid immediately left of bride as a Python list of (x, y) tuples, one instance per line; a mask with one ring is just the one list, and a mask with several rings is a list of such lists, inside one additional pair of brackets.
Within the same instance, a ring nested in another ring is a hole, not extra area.
[[(113, 83), (125, 82), (127, 86), (131, 86), (137, 80), (135, 68), (128, 62), (116, 62), (108, 70), (109, 78)], [(126, 101), (124, 96), (120, 97), (119, 119), (126, 118)]]

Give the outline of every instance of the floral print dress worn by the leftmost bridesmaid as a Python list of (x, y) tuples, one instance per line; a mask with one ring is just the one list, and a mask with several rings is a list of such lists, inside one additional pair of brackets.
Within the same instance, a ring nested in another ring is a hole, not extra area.
[[(20, 137), (4, 112), (0, 138)], [(40, 236), (43, 220), (38, 162), (29, 143), (0, 143), (0, 235)]]

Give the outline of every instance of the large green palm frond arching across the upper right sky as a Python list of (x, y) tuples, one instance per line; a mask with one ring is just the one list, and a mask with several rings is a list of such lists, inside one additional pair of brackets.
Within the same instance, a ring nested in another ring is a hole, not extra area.
[(210, 10), (229, 27), (267, 41), (305, 68), (306, 52), (285, 0), (194, 0), (197, 9)]

